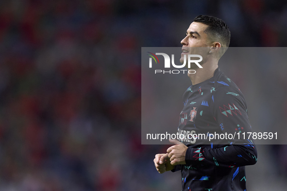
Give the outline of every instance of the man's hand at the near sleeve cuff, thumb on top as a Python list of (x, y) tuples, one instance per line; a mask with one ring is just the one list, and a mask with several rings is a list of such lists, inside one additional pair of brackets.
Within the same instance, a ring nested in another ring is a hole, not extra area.
[(169, 153), (170, 164), (186, 164), (186, 150), (187, 146), (175, 139), (169, 139), (170, 143), (175, 145), (168, 148), (167, 153)]

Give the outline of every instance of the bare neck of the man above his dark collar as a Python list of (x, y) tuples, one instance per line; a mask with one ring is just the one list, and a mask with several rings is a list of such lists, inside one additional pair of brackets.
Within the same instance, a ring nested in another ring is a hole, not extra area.
[(192, 85), (201, 83), (205, 80), (212, 78), (214, 75), (214, 71), (218, 68), (218, 60), (214, 60), (213, 62), (205, 62), (202, 64), (202, 66), (203, 68), (193, 69), (196, 71), (195, 74), (188, 73), (188, 77), (190, 78)]

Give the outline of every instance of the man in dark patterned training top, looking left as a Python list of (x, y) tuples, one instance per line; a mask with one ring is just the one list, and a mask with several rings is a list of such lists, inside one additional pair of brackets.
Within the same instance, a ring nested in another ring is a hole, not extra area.
[[(213, 16), (197, 16), (181, 41), (181, 63), (187, 54), (200, 54), (203, 68), (188, 68), (196, 73), (188, 74), (192, 85), (183, 96), (181, 114), (188, 117), (185, 123), (180, 120), (178, 133), (184, 137), (181, 142), (169, 140), (175, 145), (167, 153), (155, 155), (154, 164), (159, 173), (181, 170), (182, 191), (245, 191), (245, 166), (257, 161), (253, 140), (237, 137), (252, 132), (245, 98), (218, 68), (229, 42), (226, 23)], [(201, 132), (236, 136), (208, 144), (204, 139), (191, 138), (192, 133)]]

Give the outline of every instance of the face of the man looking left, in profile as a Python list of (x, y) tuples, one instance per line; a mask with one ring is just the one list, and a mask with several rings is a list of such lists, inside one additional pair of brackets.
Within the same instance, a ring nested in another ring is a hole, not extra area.
[(204, 57), (208, 53), (207, 47), (210, 47), (210, 41), (208, 40), (207, 34), (204, 32), (207, 27), (207, 25), (199, 22), (192, 22), (189, 25), (189, 28), (186, 31), (186, 37), (181, 41), (181, 44), (183, 45), (183, 52), (180, 59), (181, 63), (184, 63), (184, 55), (186, 55), (187, 60), (188, 54), (199, 54)]

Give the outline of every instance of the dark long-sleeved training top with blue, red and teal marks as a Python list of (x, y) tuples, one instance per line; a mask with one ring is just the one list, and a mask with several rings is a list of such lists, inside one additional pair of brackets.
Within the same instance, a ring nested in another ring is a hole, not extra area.
[(182, 191), (246, 191), (245, 166), (256, 163), (257, 151), (239, 88), (218, 68), (191, 85), (183, 102), (178, 133), (186, 164), (172, 170), (181, 170)]

